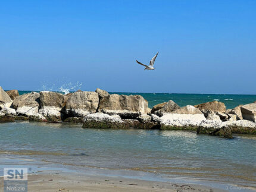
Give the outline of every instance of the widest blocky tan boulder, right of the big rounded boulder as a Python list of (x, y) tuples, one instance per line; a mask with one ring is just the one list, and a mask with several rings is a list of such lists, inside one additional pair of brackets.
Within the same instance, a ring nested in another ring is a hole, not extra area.
[(108, 95), (99, 101), (99, 112), (120, 115), (122, 118), (135, 119), (147, 114), (148, 102), (140, 95)]

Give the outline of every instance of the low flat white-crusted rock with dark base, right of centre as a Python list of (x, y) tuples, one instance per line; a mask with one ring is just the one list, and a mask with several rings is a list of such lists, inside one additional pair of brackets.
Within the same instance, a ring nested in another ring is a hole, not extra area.
[(159, 123), (162, 129), (195, 130), (202, 121), (206, 120), (203, 114), (165, 114)]

